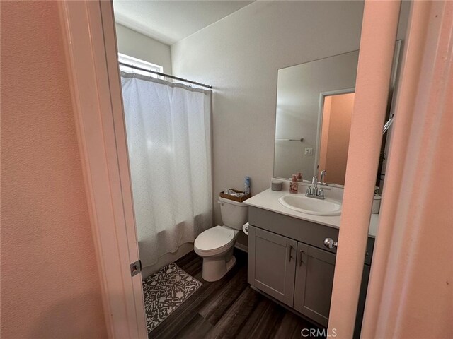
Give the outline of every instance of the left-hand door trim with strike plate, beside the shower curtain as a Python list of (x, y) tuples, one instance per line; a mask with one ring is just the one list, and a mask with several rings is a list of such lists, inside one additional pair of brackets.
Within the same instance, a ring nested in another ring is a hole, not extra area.
[(59, 10), (108, 335), (147, 338), (112, 3)]

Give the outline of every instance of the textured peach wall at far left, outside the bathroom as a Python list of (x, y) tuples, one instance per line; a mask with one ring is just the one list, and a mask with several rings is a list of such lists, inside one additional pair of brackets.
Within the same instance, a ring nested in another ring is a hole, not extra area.
[(105, 338), (57, 1), (1, 3), (1, 338)]

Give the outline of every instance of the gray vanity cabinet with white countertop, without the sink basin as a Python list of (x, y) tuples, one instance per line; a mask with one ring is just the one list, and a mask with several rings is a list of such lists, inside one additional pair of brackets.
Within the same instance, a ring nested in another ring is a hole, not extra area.
[[(336, 248), (325, 239), (338, 241), (340, 215), (309, 215), (279, 203), (280, 192), (263, 191), (248, 199), (248, 283), (308, 319), (328, 325)], [(358, 331), (372, 261), (377, 215), (372, 215), (360, 302)]]

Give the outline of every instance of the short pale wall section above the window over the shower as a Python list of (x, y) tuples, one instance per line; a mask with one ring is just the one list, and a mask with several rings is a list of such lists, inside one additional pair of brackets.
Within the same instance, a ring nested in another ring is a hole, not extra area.
[(118, 52), (163, 66), (164, 72), (171, 74), (170, 46), (118, 23), (116, 37)]

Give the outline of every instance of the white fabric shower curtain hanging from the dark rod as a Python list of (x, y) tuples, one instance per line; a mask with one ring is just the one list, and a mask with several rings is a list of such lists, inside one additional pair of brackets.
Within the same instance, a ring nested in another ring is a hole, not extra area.
[(212, 225), (211, 92), (121, 72), (143, 266)]

